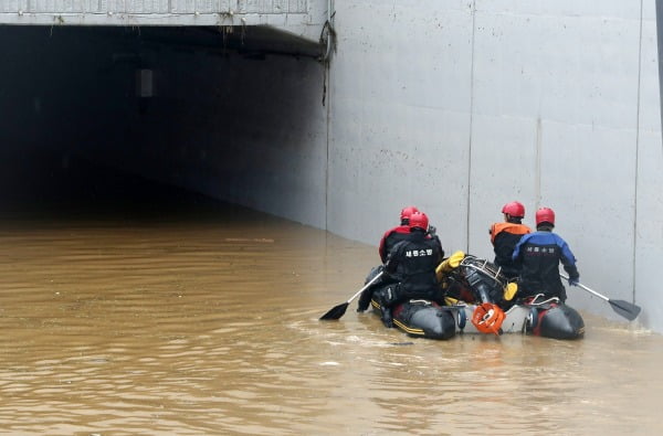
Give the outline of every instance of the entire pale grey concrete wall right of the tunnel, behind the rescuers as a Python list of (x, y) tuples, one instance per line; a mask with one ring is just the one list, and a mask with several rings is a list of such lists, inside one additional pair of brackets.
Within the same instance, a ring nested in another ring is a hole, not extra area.
[(550, 206), (582, 281), (635, 297), (641, 321), (663, 331), (653, 0), (335, 6), (332, 232), (376, 243), (412, 203), (448, 252), (490, 257), (504, 203), (522, 201), (530, 225)]

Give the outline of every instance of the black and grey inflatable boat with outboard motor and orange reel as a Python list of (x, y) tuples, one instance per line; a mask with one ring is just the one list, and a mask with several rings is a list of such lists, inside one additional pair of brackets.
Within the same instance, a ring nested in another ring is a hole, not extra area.
[[(379, 274), (375, 268), (367, 281)], [(450, 339), (456, 333), (520, 333), (552, 339), (579, 339), (585, 321), (576, 309), (543, 295), (518, 299), (517, 284), (509, 283), (494, 264), (456, 252), (438, 267), (445, 305), (409, 300), (392, 308), (393, 326), (412, 337)], [(371, 307), (381, 315), (382, 293), (371, 289)]]

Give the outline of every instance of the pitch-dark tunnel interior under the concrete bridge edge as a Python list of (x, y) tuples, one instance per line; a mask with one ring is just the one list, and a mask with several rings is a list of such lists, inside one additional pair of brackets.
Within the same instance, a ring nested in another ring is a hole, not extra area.
[(232, 201), (320, 55), (266, 28), (0, 26), (0, 217), (45, 220)]

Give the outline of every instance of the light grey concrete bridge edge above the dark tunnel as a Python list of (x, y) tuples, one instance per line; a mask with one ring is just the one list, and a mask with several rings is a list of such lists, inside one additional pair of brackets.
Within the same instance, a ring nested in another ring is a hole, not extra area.
[(1, 0), (0, 24), (267, 25), (317, 41), (327, 10), (327, 0)]

